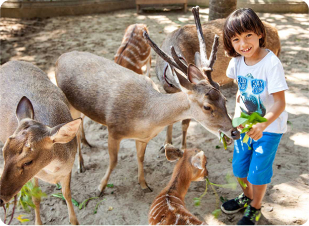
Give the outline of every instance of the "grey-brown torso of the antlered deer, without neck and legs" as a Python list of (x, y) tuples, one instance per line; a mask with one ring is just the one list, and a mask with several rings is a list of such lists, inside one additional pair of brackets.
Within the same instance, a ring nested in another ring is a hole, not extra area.
[(87, 52), (69, 52), (56, 64), (56, 80), (74, 108), (110, 126), (125, 124), (159, 94), (151, 79)]

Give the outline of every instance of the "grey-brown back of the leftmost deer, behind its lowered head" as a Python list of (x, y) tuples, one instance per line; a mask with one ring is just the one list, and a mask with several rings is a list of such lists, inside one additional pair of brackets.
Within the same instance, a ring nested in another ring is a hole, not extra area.
[(17, 128), (15, 116), (20, 99), (26, 96), (33, 105), (34, 119), (50, 127), (72, 120), (63, 92), (38, 67), (10, 61), (0, 68), (0, 140)]

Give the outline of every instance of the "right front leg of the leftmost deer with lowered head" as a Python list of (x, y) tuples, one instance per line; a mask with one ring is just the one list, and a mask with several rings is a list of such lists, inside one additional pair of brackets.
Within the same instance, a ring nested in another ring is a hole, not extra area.
[(69, 219), (71, 224), (79, 224), (77, 217), (75, 215), (75, 211), (73, 208), (73, 203), (72, 203), (72, 197), (71, 197), (71, 188), (70, 188), (70, 183), (71, 183), (71, 173), (69, 173), (66, 177), (64, 177), (61, 181), (61, 186), (62, 186), (62, 194), (63, 197), (65, 198), (65, 201), (68, 206), (68, 211), (69, 211)]

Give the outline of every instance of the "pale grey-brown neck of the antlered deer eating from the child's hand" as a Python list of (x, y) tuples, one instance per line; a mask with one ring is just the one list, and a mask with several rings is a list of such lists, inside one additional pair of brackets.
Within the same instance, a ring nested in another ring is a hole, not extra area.
[[(153, 104), (153, 103), (152, 103)], [(156, 103), (150, 106), (157, 125), (170, 125), (180, 120), (191, 118), (190, 103), (183, 92), (160, 94)]]

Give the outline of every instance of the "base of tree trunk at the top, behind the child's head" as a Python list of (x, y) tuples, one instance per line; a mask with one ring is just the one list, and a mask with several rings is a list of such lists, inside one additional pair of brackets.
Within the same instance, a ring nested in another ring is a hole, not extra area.
[(236, 9), (237, 0), (210, 0), (209, 21), (226, 18)]

